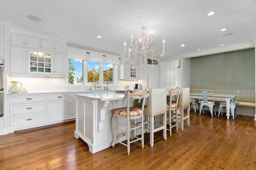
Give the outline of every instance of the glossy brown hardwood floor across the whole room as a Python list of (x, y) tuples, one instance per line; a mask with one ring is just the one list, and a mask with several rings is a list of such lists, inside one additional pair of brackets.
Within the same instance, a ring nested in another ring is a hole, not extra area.
[[(186, 122), (186, 121), (185, 121)], [(167, 136), (149, 134), (145, 146), (124, 145), (92, 154), (88, 145), (74, 137), (75, 122), (18, 131), (0, 136), (1, 170), (256, 170), (256, 121), (238, 115), (210, 117), (190, 112), (190, 127)]]

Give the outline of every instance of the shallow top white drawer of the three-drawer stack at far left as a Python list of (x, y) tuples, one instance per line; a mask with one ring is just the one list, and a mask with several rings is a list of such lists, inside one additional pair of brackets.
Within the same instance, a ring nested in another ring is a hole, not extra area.
[(40, 96), (10, 96), (9, 103), (46, 101), (46, 95)]

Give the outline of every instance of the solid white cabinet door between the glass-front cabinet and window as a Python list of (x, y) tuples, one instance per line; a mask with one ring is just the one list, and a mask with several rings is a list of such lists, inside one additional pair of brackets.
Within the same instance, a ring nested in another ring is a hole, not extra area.
[(55, 76), (66, 75), (66, 54), (54, 53), (54, 75)]

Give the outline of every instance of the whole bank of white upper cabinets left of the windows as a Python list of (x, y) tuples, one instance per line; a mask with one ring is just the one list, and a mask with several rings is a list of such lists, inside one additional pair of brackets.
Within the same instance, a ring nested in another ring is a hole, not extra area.
[(67, 41), (26, 33), (10, 33), (9, 74), (66, 76)]

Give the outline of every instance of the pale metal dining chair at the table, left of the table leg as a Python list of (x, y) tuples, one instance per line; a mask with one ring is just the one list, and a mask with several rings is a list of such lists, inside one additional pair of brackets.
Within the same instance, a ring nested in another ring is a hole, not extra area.
[[(212, 90), (198, 90), (198, 99), (199, 99), (199, 102), (200, 103), (200, 111), (199, 111), (199, 115), (201, 115), (201, 111), (203, 109), (203, 113), (204, 113), (204, 109), (205, 109), (205, 106), (208, 106), (209, 109), (210, 109), (210, 113), (213, 117), (213, 107), (215, 106), (214, 104), (214, 93), (212, 92)], [(203, 100), (200, 100), (200, 95), (199, 94), (203, 94)], [(209, 96), (212, 96), (213, 98), (213, 101), (209, 101), (208, 100), (208, 95)], [(215, 111), (215, 115), (216, 115), (216, 109), (214, 107), (214, 111)]]

